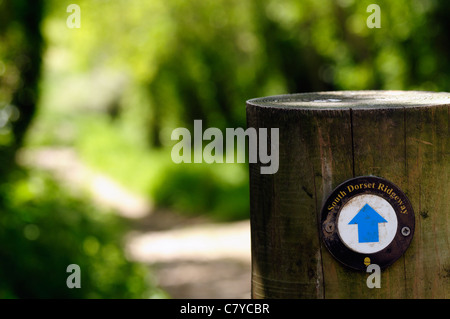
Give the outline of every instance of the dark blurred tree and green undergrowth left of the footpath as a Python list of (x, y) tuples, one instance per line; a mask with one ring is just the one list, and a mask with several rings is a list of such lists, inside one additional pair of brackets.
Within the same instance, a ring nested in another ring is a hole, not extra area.
[[(0, 298), (155, 296), (146, 267), (125, 257), (122, 220), (15, 165), (37, 111), (43, 19), (42, 0), (0, 0)], [(72, 263), (82, 289), (66, 285)]]

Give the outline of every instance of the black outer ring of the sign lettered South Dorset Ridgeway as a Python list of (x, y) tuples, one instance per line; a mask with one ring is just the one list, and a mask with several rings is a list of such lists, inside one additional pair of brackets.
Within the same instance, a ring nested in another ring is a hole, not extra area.
[[(360, 189), (353, 190), (350, 194), (342, 196), (343, 191), (350, 185), (373, 185), (373, 183), (379, 187), (361, 187)], [(381, 184), (387, 188), (384, 188)], [(392, 189), (391, 194), (395, 192), (395, 196), (397, 197), (391, 197), (383, 189)], [(351, 250), (341, 240), (337, 228), (337, 220), (341, 209), (350, 199), (362, 194), (372, 194), (382, 197), (393, 207), (397, 216), (398, 225), (394, 239), (385, 248), (375, 253), (360, 253)], [(399, 204), (399, 201), (401, 201), (402, 205)], [(332, 208), (331, 210), (329, 209), (330, 207)], [(402, 211), (406, 211), (407, 213), (402, 213)], [(414, 229), (414, 210), (408, 197), (398, 186), (382, 177), (358, 176), (348, 179), (331, 192), (322, 207), (321, 235), (325, 246), (335, 259), (355, 270), (366, 270), (367, 265), (364, 264), (366, 257), (370, 258), (371, 264), (377, 264), (381, 269), (392, 265), (408, 249), (414, 236)]]

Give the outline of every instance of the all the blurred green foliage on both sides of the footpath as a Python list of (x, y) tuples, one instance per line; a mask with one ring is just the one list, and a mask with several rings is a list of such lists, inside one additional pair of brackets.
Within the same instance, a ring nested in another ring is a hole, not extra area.
[[(73, 2), (80, 29), (66, 25)], [(379, 0), (381, 28), (370, 29), (371, 3), (0, 1), (0, 297), (152, 295), (117, 220), (17, 168), (20, 147), (72, 147), (157, 206), (242, 219), (247, 166), (174, 164), (174, 128), (245, 127), (245, 101), (265, 95), (447, 91), (450, 3)], [(58, 286), (73, 259), (95, 269), (84, 295)], [(49, 269), (60, 277), (39, 281)]]

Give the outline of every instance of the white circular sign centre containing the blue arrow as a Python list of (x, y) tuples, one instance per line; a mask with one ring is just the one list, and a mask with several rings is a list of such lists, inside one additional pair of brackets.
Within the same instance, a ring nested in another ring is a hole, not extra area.
[(339, 212), (337, 228), (342, 242), (351, 250), (376, 253), (387, 247), (397, 233), (394, 208), (377, 195), (351, 198)]

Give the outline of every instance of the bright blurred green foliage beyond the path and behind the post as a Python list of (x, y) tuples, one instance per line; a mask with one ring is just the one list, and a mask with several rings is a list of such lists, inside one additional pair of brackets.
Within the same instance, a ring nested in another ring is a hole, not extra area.
[[(221, 192), (223, 176), (206, 186), (187, 165), (173, 167), (174, 128), (192, 129), (195, 119), (204, 128), (245, 127), (245, 101), (258, 96), (447, 89), (449, 5), (377, 1), (381, 28), (369, 29), (372, 2), (79, 1), (82, 27), (73, 30), (62, 18), (69, 2), (54, 2), (43, 24), (49, 49), (41, 131), (49, 140), (39, 142), (63, 143), (62, 131), (81, 132), (65, 142), (76, 140), (92, 165), (157, 203), (209, 212), (202, 203), (222, 205), (209, 191)], [(74, 124), (88, 117), (89, 129)], [(206, 166), (199, 169), (207, 175)], [(237, 180), (245, 189), (246, 178)], [(193, 188), (193, 205), (173, 196)], [(230, 214), (247, 216), (246, 199), (234, 202), (239, 212)]]

